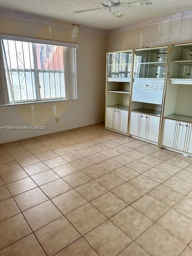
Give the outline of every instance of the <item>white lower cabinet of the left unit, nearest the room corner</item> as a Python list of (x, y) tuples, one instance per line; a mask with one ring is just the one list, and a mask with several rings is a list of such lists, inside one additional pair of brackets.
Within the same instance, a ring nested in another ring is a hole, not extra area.
[(127, 134), (128, 114), (128, 110), (107, 107), (106, 128)]

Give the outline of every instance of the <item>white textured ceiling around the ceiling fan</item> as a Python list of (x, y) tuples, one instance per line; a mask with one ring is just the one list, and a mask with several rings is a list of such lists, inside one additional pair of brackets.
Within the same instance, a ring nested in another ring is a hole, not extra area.
[(74, 13), (102, 7), (100, 0), (0, 0), (0, 8), (107, 30), (192, 9), (192, 0), (153, 1), (154, 6), (122, 9), (124, 17), (120, 19), (116, 19), (106, 9)]

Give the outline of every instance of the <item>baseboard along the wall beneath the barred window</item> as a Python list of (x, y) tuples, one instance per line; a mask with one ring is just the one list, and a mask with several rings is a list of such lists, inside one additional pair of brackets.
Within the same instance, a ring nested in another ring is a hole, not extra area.
[(23, 136), (19, 136), (19, 137), (0, 140), (0, 144), (7, 143), (7, 142), (12, 142), (12, 141), (16, 141), (16, 140), (24, 140), (24, 139), (28, 139), (28, 138), (38, 137), (38, 136), (46, 135), (46, 134), (52, 134), (52, 133), (55, 133), (55, 132), (62, 132), (62, 131), (66, 131), (66, 130), (71, 130), (71, 129), (75, 129), (75, 128), (80, 128), (80, 127), (84, 127), (84, 126), (93, 125), (93, 124), (101, 124), (103, 122), (104, 122), (104, 120), (97, 121), (97, 122), (86, 123), (86, 124), (81, 124), (81, 125), (77, 125), (77, 126), (70, 126), (70, 127), (67, 127), (67, 128), (60, 128), (60, 129), (50, 130), (50, 131), (42, 130), (42, 132), (38, 132), (38, 133), (35, 133), (35, 134), (27, 134), (27, 135), (23, 135)]

